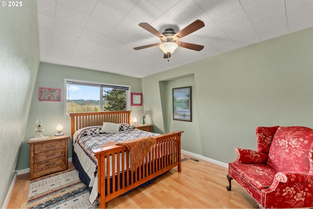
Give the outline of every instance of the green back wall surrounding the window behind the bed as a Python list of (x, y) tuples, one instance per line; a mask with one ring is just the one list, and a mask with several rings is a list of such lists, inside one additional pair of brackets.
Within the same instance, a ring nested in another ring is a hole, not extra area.
[[(56, 133), (55, 127), (58, 123), (63, 125), (64, 133), (70, 135), (70, 117), (64, 116), (64, 79), (74, 79), (107, 84), (130, 85), (131, 92), (141, 93), (140, 79), (105, 73), (95, 70), (69, 67), (49, 63), (40, 63), (38, 76), (32, 97), (28, 123), (25, 130), (25, 137), (22, 142), (21, 154), (18, 169), (29, 168), (29, 145), (27, 140), (36, 136), (35, 128), (37, 117), (41, 116), (43, 121), (43, 135), (49, 136)], [(39, 87), (61, 88), (61, 102), (39, 101)], [(132, 117), (141, 106), (132, 106)], [(137, 117), (138, 118), (138, 117)], [(68, 142), (68, 157), (72, 157), (71, 140)]]

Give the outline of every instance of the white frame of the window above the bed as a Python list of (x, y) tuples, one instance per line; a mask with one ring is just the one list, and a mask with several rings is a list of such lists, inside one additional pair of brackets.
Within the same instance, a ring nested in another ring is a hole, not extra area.
[[(99, 87), (99, 99), (100, 99), (100, 110), (103, 108), (103, 87), (121, 87), (121, 88), (128, 88), (126, 90), (126, 110), (131, 110), (131, 86), (130, 85), (121, 85), (121, 84), (107, 84), (107, 83), (99, 83), (99, 82), (91, 82), (91, 81), (81, 81), (81, 80), (74, 80), (74, 79), (64, 79), (64, 116), (69, 116), (67, 113), (67, 82), (77, 83), (77, 85), (86, 84), (89, 86)], [(103, 111), (103, 109), (102, 109)]]

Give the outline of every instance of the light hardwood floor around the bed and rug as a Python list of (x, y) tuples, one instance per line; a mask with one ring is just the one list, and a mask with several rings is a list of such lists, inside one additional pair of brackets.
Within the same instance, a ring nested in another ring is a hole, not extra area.
[[(68, 166), (74, 167), (70, 162)], [(182, 163), (180, 173), (173, 168), (153, 184), (111, 200), (107, 208), (257, 208), (234, 180), (232, 190), (227, 191), (226, 175), (225, 167), (189, 159)], [(17, 177), (7, 208), (26, 208), (28, 185), (29, 173)]]

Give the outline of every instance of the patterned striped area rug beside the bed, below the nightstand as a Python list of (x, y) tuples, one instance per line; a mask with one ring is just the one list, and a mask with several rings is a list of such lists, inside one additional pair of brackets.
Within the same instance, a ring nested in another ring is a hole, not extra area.
[(69, 170), (29, 183), (27, 208), (99, 208), (96, 200), (89, 202), (89, 191), (78, 177), (77, 170)]

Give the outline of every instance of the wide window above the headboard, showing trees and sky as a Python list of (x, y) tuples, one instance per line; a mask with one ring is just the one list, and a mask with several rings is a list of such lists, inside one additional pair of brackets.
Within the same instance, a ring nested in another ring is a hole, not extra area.
[(130, 110), (130, 86), (64, 80), (64, 115), (70, 112)]

